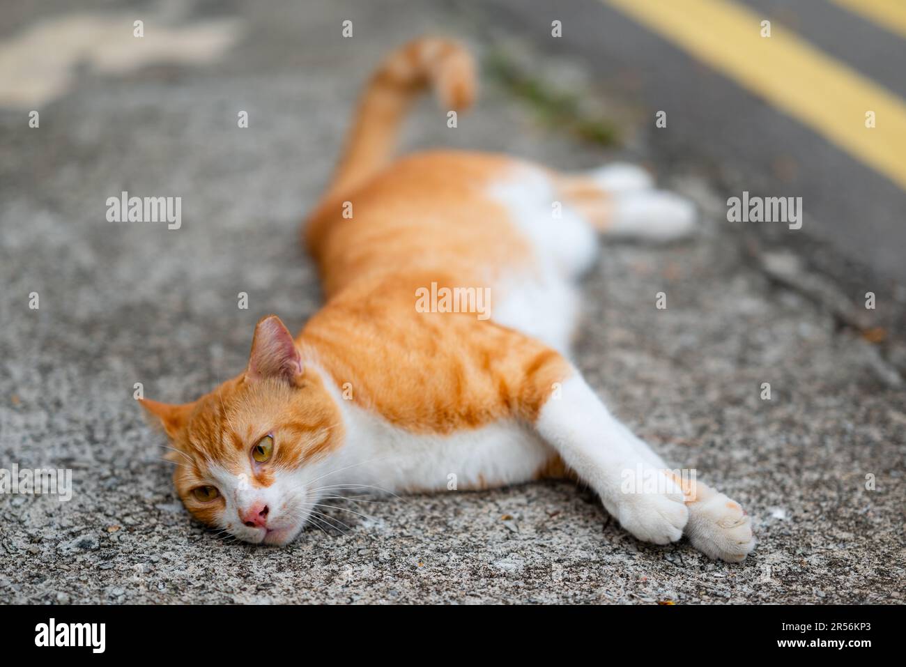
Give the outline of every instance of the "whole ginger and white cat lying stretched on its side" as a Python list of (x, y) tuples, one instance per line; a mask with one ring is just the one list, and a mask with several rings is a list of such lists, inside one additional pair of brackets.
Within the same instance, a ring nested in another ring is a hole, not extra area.
[[(405, 45), (365, 91), (305, 227), (326, 303), (303, 332), (265, 317), (236, 378), (185, 405), (142, 401), (172, 440), (179, 497), (208, 526), (284, 545), (342, 488), (569, 476), (641, 540), (685, 534), (708, 556), (742, 560), (755, 545), (742, 507), (670, 472), (568, 361), (574, 283), (597, 234), (680, 237), (694, 208), (629, 165), (567, 175), (454, 151), (391, 161), (405, 111), (429, 86), (445, 109), (471, 102), (473, 63), (457, 43)], [(455, 288), (488, 289), (490, 318), (417, 307), (426, 289)], [(627, 486), (639, 478), (650, 483)]]

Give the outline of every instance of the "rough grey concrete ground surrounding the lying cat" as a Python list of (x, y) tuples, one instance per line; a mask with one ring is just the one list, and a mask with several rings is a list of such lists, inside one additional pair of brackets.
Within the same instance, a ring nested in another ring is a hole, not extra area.
[[(152, 34), (157, 5), (135, 6)], [(297, 329), (317, 309), (298, 227), (381, 53), (429, 31), (483, 53), (506, 36), (446, 3), (227, 6), (178, 17), (236, 19), (235, 43), (209, 63), (83, 66), (40, 105), (39, 129), (22, 109), (0, 110), (0, 468), (69, 468), (74, 483), (69, 502), (0, 497), (0, 602), (906, 600), (902, 332), (870, 342), (879, 334), (853, 326), (867, 315), (851, 292), (810, 257), (728, 223), (728, 195), (694, 169), (659, 169), (646, 131), (626, 126), (623, 148), (604, 150), (539, 124), (494, 82), (456, 130), (430, 101), (419, 106), (407, 146), (502, 150), (564, 169), (630, 158), (699, 203), (692, 242), (602, 249), (575, 358), (666, 459), (747, 507), (755, 553), (727, 565), (685, 541), (641, 544), (590, 492), (556, 482), (350, 504), (333, 511), (342, 530), (311, 529), (284, 548), (218, 540), (190, 520), (134, 384), (149, 398), (194, 399), (243, 368), (260, 316)], [(37, 18), (12, 15), (0, 40)], [(340, 37), (346, 18), (352, 39)], [(517, 53), (545, 80), (596, 94), (568, 57)], [(600, 102), (622, 118), (620, 102)], [(182, 197), (183, 226), (107, 222), (105, 201), (122, 190)]]

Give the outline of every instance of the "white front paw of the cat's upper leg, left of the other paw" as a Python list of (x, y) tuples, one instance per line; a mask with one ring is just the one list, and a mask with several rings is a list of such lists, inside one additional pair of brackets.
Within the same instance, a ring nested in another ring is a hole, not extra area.
[(616, 503), (616, 517), (638, 539), (666, 545), (682, 536), (689, 521), (689, 509), (683, 502), (682, 490), (662, 473), (656, 475), (661, 476), (660, 490), (624, 490)]

